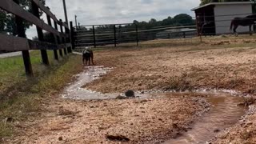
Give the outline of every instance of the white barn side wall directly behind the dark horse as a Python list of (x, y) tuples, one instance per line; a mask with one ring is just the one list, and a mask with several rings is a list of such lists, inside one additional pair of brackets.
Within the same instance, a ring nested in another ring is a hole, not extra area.
[[(221, 16), (218, 15), (229, 15)], [(235, 15), (239, 14), (239, 15)], [(252, 14), (251, 4), (230, 4), (230, 5), (216, 5), (214, 7), (216, 34), (230, 33), (230, 23), (235, 17), (246, 17)], [(238, 33), (248, 32), (249, 26), (238, 26)]]

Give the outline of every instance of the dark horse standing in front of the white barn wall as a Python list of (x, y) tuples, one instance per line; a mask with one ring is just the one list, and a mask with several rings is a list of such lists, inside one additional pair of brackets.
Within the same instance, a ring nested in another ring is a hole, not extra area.
[(251, 34), (251, 26), (254, 25), (254, 21), (256, 21), (256, 15), (248, 15), (245, 18), (236, 17), (231, 21), (230, 30), (233, 27), (234, 34), (237, 34), (238, 26), (249, 26)]

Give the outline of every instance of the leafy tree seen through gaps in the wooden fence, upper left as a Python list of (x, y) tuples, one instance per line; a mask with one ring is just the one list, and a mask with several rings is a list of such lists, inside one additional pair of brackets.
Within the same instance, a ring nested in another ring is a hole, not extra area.
[[(30, 0), (19, 0), (20, 6), (24, 10), (29, 12), (32, 11), (31, 1)], [(46, 4), (46, 0), (40, 0), (44, 5)], [(40, 15), (42, 15), (42, 11), (40, 11)], [(24, 22), (25, 30), (28, 29), (32, 24), (30, 22)], [(0, 32), (8, 33), (11, 35), (17, 35), (15, 17), (13, 14), (8, 14), (4, 10), (0, 10)]]

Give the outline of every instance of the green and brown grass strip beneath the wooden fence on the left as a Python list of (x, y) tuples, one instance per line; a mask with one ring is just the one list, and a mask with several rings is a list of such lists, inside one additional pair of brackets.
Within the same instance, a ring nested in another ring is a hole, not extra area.
[(2, 138), (16, 134), (14, 124), (5, 122), (13, 118), (22, 122), (34, 118), (42, 110), (42, 103), (58, 94), (72, 76), (82, 70), (81, 58), (70, 54), (55, 61), (49, 52), (50, 66), (42, 65), (38, 51), (30, 53), (34, 78), (26, 78), (22, 57), (0, 59), (0, 142)]

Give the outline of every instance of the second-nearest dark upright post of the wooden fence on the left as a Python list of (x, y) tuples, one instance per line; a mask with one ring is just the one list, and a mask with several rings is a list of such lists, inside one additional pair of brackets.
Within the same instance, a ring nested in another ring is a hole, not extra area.
[[(32, 13), (34, 14), (34, 16), (36, 16), (37, 18), (40, 19), (38, 6), (36, 3), (34, 3), (34, 1), (32, 1)], [(43, 38), (42, 29), (38, 26), (36, 26), (36, 27), (37, 27), (37, 31), (38, 31), (38, 40), (43, 42), (44, 38)], [(45, 65), (49, 65), (49, 59), (48, 59), (46, 50), (41, 50), (41, 56), (42, 56), (42, 63)]]

